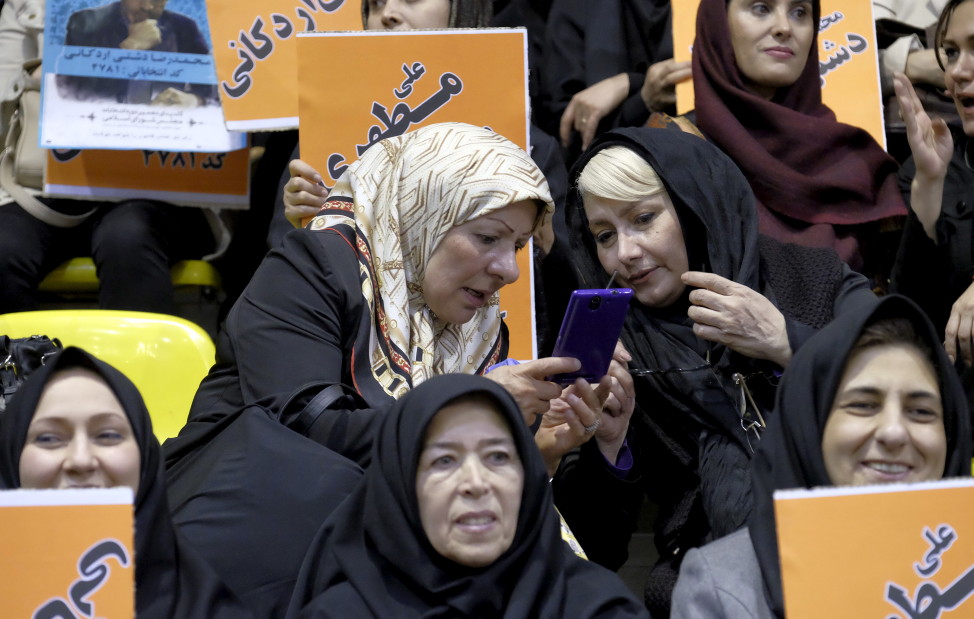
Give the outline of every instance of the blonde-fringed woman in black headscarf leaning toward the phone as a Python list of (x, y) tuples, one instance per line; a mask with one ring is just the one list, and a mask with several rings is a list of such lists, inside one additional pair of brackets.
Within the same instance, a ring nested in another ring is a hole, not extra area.
[[(604, 286), (615, 272), (615, 284), (638, 300), (622, 335), (639, 409), (637, 466), (602, 492), (632, 513), (643, 490), (659, 505), (661, 561), (647, 602), (665, 616), (684, 553), (735, 530), (750, 512), (749, 457), (792, 352), (873, 295), (831, 250), (759, 236), (740, 170), (688, 133), (609, 132), (572, 178), (567, 214), (582, 281)], [(585, 501), (559, 490), (559, 509), (583, 547), (624, 548), (626, 538), (606, 541), (612, 532)]]

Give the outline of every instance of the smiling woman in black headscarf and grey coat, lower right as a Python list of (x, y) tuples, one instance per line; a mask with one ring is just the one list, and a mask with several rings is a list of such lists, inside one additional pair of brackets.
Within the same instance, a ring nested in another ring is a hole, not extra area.
[(754, 456), (754, 517), (687, 555), (673, 617), (785, 616), (775, 490), (970, 475), (967, 405), (933, 325), (895, 295), (862, 310), (795, 356)]

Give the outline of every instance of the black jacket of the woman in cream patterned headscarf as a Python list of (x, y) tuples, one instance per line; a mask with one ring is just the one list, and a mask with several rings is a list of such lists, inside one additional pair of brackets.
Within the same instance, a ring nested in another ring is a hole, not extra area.
[[(352, 385), (368, 407), (331, 409), (318, 416), (308, 436), (367, 466), (378, 420), (393, 402), (367, 375), (367, 360), (360, 368), (345, 353), (357, 348), (358, 338), (368, 338), (369, 319), (358, 262), (345, 237), (290, 232), (281, 248), (268, 253), (227, 316), (217, 339), (217, 364), (196, 393), (190, 422), (216, 421), (301, 385)], [(281, 355), (287, 363), (280, 362)], [(281, 421), (288, 425), (299, 413), (286, 412)]]

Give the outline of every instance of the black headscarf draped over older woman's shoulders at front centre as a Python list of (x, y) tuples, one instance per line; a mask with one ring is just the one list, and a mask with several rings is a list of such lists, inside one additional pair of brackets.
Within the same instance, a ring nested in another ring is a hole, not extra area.
[[(524, 466), (511, 547), (479, 569), (433, 549), (416, 496), (426, 429), (447, 403), (467, 394), (496, 403)], [(494, 381), (448, 374), (422, 383), (385, 417), (373, 454), (362, 485), (312, 544), (289, 616), (647, 616), (615, 574), (579, 559), (561, 540), (541, 455), (517, 404)]]

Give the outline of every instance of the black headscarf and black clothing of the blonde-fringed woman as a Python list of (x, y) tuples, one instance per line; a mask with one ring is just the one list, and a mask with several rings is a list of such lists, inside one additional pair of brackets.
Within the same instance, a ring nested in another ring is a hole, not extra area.
[[(648, 128), (610, 131), (596, 138), (575, 165), (569, 176), (572, 186), (592, 156), (610, 146), (633, 150), (660, 176), (680, 219), (691, 269), (744, 284), (773, 303), (788, 301), (790, 307), (779, 308), (792, 350), (815, 331), (799, 317), (818, 326), (826, 315), (872, 298), (865, 278), (849, 271), (834, 252), (806, 253), (760, 240), (754, 197), (740, 170), (717, 147), (691, 134)], [(566, 215), (583, 285), (603, 286), (607, 275), (577, 190), (569, 194)], [(782, 289), (775, 290), (771, 281)], [(812, 298), (812, 293), (822, 296)], [(634, 303), (622, 335), (633, 356), (630, 368), (665, 370), (634, 376), (637, 409), (632, 426), (636, 467), (647, 471), (645, 491), (659, 508), (654, 529), (657, 550), (670, 562), (659, 570), (667, 582), (670, 568), (678, 568), (675, 564), (689, 548), (745, 523), (751, 509), (748, 470), (754, 439), (749, 441), (741, 426), (733, 374), (750, 377), (750, 392), (768, 412), (780, 372), (772, 362), (698, 339), (686, 314), (688, 304), (686, 294), (667, 308)], [(622, 504), (631, 500), (627, 494), (618, 499)], [(569, 510), (563, 514), (573, 528), (574, 521), (586, 517)], [(584, 548), (602, 543), (583, 536), (579, 541)], [(665, 583), (650, 584), (654, 596), (667, 591), (664, 598), (647, 600), (651, 612), (669, 614), (669, 590)]]

